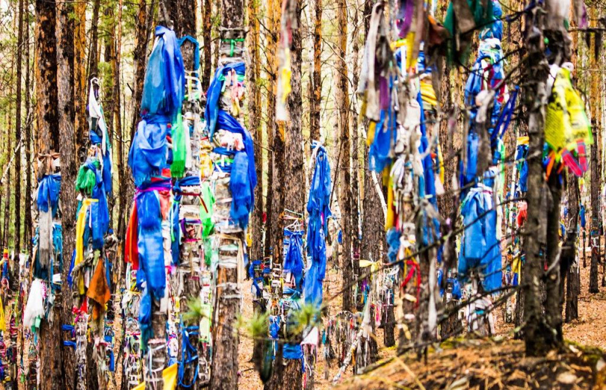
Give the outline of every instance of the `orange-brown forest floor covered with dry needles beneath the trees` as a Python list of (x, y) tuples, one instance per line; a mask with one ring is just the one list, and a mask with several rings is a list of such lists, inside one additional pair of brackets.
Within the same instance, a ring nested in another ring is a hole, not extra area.
[[(589, 252), (587, 253), (589, 254)], [(416, 354), (397, 357), (396, 348), (385, 348), (382, 329), (377, 329), (379, 340), (378, 369), (355, 377), (351, 366), (342, 375), (342, 388), (592, 388), (593, 383), (604, 383), (606, 388), (606, 288), (598, 294), (589, 294), (589, 261), (582, 267), (579, 319), (564, 324), (564, 337), (568, 340), (568, 352), (541, 359), (526, 358), (524, 343), (513, 340), (513, 324), (504, 322), (504, 309), (495, 311), (493, 339), (459, 339), (442, 343), (439, 351), (430, 351), (427, 362), (416, 359)], [(599, 267), (602, 277), (602, 266)], [(324, 299), (341, 288), (341, 273), (330, 269), (324, 282)], [(329, 303), (331, 316), (341, 308), (341, 299)], [(250, 318), (253, 312), (250, 291), (244, 299), (242, 316)], [(581, 347), (582, 346), (582, 347)], [(602, 351), (596, 348), (601, 348)], [(244, 335), (239, 348), (239, 389), (261, 389), (263, 384), (250, 361), (253, 341)], [(322, 356), (322, 347), (318, 356)], [(326, 367), (324, 359), (316, 365), (316, 389), (332, 388), (331, 380), (338, 371), (335, 361)], [(596, 375), (599, 371), (599, 375)], [(444, 375), (449, 372), (449, 375)], [(328, 377), (328, 379), (325, 379)], [(599, 382), (593, 382), (598, 380)], [(419, 386), (422, 383), (422, 386)], [(593, 388), (602, 388), (595, 386)]]

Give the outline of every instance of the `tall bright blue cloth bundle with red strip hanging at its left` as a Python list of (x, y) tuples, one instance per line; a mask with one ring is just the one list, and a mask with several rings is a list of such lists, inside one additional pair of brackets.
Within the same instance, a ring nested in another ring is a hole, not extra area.
[(171, 127), (182, 121), (185, 94), (183, 59), (174, 31), (158, 26), (155, 36), (145, 70), (142, 120), (128, 153), (137, 188), (125, 243), (125, 261), (137, 270), (136, 286), (142, 289), (139, 326), (145, 350), (153, 337), (152, 299), (160, 302), (167, 296), (165, 267), (171, 262), (171, 232), (174, 233), (174, 219), (169, 219), (173, 209)]

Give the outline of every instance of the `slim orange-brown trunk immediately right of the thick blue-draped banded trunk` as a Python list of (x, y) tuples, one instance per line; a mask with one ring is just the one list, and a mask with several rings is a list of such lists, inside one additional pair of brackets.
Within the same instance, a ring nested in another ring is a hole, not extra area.
[(263, 258), (263, 144), (261, 128), (261, 88), (259, 88), (259, 79), (261, 78), (261, 59), (259, 58), (259, 35), (261, 25), (259, 23), (259, 3), (256, 1), (248, 2), (248, 130), (255, 140), (255, 168), (258, 177), (257, 187), (255, 188), (255, 210), (253, 210), (251, 220), (252, 245), (250, 255), (252, 260), (261, 260)]

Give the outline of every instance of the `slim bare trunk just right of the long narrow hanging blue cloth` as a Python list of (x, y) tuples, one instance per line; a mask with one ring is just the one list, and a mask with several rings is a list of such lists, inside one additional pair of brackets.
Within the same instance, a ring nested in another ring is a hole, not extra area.
[(339, 48), (336, 60), (338, 102), (338, 125), (341, 137), (341, 166), (337, 167), (339, 175), (339, 208), (341, 209), (341, 231), (343, 237), (343, 306), (344, 311), (353, 311), (353, 258), (351, 256), (351, 145), (349, 129), (349, 79), (347, 72), (347, 1), (339, 0), (337, 19), (339, 31)]

